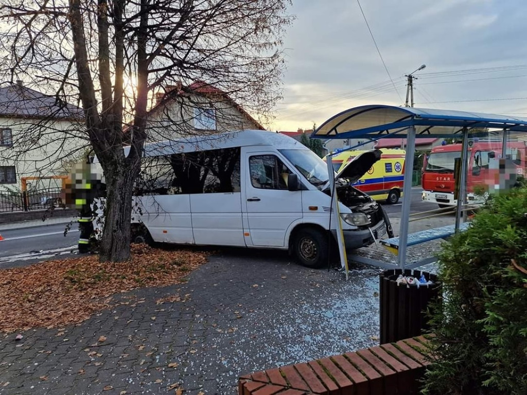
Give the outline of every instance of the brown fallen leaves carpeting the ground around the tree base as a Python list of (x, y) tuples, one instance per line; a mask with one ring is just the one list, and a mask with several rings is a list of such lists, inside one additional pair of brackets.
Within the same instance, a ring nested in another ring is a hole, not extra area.
[(82, 322), (108, 308), (115, 293), (181, 283), (205, 262), (206, 253), (134, 244), (128, 262), (86, 255), (0, 270), (0, 331)]

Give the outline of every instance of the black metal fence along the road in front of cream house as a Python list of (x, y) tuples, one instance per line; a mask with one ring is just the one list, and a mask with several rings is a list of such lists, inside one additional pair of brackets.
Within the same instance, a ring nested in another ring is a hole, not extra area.
[(60, 187), (26, 192), (0, 191), (0, 212), (45, 210), (64, 207), (64, 191)]

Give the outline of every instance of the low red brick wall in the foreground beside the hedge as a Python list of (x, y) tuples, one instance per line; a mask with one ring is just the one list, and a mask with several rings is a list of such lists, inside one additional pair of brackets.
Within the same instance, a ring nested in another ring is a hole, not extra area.
[(423, 337), (246, 374), (238, 395), (411, 395), (426, 366)]

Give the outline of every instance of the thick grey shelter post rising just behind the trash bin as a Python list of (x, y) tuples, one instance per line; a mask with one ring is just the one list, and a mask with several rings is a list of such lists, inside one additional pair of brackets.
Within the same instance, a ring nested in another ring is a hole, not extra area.
[(406, 157), (403, 184), (403, 209), (401, 212), (401, 227), (399, 228), (398, 268), (404, 269), (406, 262), (406, 241), (408, 238), (408, 220), (410, 204), (412, 203), (412, 172), (414, 170), (415, 127), (412, 125), (406, 135)]

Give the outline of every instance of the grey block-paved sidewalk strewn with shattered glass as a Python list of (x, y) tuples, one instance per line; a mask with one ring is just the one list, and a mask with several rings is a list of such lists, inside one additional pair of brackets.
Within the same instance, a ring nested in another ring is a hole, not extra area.
[(2, 335), (0, 394), (235, 394), (242, 374), (378, 344), (378, 272), (225, 250), (82, 324)]

